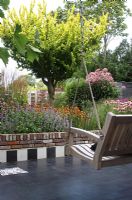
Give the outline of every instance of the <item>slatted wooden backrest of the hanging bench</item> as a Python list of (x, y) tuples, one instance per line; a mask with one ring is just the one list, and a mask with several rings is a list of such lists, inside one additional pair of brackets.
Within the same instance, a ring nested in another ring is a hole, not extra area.
[(108, 113), (102, 134), (96, 151), (100, 157), (132, 153), (132, 115)]

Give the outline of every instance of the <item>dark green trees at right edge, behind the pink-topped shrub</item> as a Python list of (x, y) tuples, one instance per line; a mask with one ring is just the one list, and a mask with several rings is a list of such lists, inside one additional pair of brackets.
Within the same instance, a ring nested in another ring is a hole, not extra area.
[(103, 59), (102, 53), (97, 54), (92, 64), (88, 65), (89, 71), (95, 71), (98, 66), (106, 67), (115, 81), (132, 81), (132, 41), (122, 40), (115, 50), (106, 52), (105, 64)]

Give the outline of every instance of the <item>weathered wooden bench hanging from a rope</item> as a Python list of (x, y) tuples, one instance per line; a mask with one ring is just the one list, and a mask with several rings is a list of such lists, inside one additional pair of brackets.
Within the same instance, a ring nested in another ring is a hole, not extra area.
[[(96, 150), (91, 144), (73, 144), (73, 134), (85, 134), (97, 142)], [(100, 135), (70, 127), (69, 148), (73, 156), (91, 163), (96, 169), (132, 162), (132, 115), (115, 115), (109, 112)]]

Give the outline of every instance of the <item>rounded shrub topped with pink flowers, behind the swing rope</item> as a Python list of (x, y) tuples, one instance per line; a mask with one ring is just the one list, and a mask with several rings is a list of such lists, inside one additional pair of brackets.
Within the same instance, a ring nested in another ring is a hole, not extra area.
[(97, 69), (86, 76), (90, 81), (95, 100), (117, 98), (119, 92), (114, 84), (113, 77), (107, 68)]

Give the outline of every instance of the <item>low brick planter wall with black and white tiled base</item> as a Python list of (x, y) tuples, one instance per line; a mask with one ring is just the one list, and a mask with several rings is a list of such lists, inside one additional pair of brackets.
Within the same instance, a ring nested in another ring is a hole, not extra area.
[[(68, 137), (66, 132), (0, 134), (0, 162), (64, 157)], [(76, 134), (78, 142), (87, 143), (88, 138)]]

